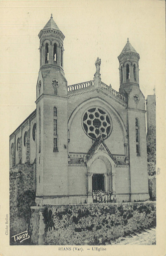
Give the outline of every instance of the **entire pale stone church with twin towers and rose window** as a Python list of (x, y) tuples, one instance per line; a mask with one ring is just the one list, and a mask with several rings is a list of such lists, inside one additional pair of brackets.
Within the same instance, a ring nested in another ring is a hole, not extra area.
[(64, 35), (53, 17), (38, 34), (36, 109), (10, 135), (10, 168), (33, 165), (36, 204), (91, 203), (93, 190), (117, 201), (149, 199), (145, 97), (140, 55), (127, 40), (118, 56), (119, 92), (94, 79), (68, 86)]

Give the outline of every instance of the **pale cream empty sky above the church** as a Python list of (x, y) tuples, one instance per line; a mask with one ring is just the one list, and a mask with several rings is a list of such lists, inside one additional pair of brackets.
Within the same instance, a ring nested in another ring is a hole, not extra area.
[(165, 2), (162, 0), (0, 1), (0, 107), (5, 139), (35, 109), (38, 33), (50, 15), (65, 35), (68, 85), (101, 79), (119, 90), (118, 55), (127, 37), (140, 54), (140, 88), (147, 98), (165, 84)]

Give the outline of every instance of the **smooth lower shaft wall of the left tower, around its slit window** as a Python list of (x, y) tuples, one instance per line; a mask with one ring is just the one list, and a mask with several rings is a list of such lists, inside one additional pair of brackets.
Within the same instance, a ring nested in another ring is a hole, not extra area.
[[(67, 191), (67, 165), (68, 165), (68, 140), (67, 140), (67, 100), (59, 97), (43, 98), (41, 100), (41, 152), (42, 159), (42, 186), (43, 195), (63, 195)], [(54, 147), (53, 109), (57, 107), (57, 145)]]

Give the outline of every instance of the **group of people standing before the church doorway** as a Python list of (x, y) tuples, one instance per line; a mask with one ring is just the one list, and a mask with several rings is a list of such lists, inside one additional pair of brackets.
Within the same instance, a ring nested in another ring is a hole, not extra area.
[(93, 190), (92, 192), (93, 202), (103, 203), (103, 202), (117, 202), (116, 195), (112, 192), (106, 192), (102, 190)]

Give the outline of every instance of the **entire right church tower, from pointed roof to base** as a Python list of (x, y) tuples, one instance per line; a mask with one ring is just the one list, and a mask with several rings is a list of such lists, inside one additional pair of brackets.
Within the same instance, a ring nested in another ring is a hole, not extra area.
[(130, 200), (149, 199), (145, 97), (139, 85), (140, 55), (127, 39), (119, 59), (119, 92), (127, 98)]

